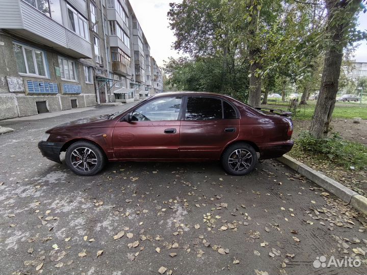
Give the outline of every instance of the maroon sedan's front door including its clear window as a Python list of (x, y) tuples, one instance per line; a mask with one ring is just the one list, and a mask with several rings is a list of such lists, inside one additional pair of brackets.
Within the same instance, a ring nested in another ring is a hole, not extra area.
[(116, 123), (112, 142), (118, 159), (178, 158), (181, 96), (152, 99)]

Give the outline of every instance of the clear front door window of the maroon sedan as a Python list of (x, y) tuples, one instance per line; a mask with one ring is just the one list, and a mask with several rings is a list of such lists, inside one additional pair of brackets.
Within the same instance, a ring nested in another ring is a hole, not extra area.
[(150, 101), (137, 108), (133, 121), (166, 121), (177, 120), (182, 97), (163, 97)]

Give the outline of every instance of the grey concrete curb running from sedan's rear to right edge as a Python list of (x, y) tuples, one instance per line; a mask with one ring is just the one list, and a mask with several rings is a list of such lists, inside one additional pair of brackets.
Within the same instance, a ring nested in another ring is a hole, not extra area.
[(324, 174), (313, 170), (312, 168), (309, 168), (308, 166), (306, 166), (302, 162), (299, 162), (293, 157), (284, 155), (278, 157), (277, 160), (284, 163), (286, 166), (289, 166), (290, 168), (297, 171), (299, 174), (305, 176), (314, 183), (320, 185), (324, 189), (328, 190), (339, 199), (347, 202), (364, 215), (367, 215), (367, 198), (359, 195), (355, 191), (325, 176)]

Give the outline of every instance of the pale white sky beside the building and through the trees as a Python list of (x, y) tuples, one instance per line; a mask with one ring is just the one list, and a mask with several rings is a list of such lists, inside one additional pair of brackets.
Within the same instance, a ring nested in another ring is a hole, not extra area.
[[(150, 45), (150, 55), (158, 63), (164, 65), (164, 60), (169, 57), (177, 58), (180, 56), (171, 48), (175, 41), (173, 32), (168, 28), (169, 21), (167, 12), (170, 2), (181, 2), (179, 0), (130, 0), (139, 23), (143, 29), (145, 37)], [(367, 30), (367, 13), (359, 14), (359, 30)], [(367, 41), (359, 42), (360, 46), (356, 49), (354, 58), (357, 62), (367, 62)]]

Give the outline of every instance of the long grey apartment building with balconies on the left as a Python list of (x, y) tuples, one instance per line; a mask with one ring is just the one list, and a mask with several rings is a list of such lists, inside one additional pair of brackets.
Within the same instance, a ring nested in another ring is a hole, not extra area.
[(153, 93), (150, 47), (128, 0), (0, 7), (0, 119)]

